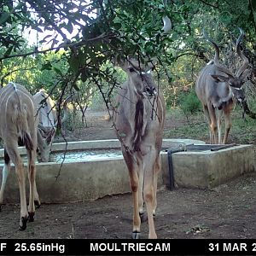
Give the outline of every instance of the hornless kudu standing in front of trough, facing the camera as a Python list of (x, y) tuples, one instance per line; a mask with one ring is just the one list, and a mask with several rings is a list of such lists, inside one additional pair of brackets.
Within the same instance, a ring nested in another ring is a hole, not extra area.
[(156, 238), (154, 214), (165, 102), (153, 80), (153, 65), (145, 67), (130, 59), (119, 66), (128, 79), (116, 98), (118, 107), (113, 111), (113, 124), (130, 176), (134, 207), (132, 238), (139, 238), (144, 202), (148, 213), (148, 238)]

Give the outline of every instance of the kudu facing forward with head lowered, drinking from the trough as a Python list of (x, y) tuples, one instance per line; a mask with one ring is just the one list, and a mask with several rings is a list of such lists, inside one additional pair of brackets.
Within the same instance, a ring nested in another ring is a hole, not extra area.
[[(39, 90), (34, 96), (38, 111), (38, 149), (41, 160), (43, 162), (49, 161), (49, 154), (51, 145), (55, 137), (55, 131), (58, 121), (58, 115), (55, 109), (55, 102), (45, 92), (45, 90)], [(67, 120), (68, 110), (67, 103), (72, 100), (72, 96), (68, 96), (63, 102), (64, 115), (61, 119), (61, 125)]]

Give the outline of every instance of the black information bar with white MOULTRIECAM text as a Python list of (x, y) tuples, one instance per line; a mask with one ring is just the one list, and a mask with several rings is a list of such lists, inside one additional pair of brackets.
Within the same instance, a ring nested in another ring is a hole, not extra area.
[(0, 255), (253, 255), (256, 240), (0, 240)]

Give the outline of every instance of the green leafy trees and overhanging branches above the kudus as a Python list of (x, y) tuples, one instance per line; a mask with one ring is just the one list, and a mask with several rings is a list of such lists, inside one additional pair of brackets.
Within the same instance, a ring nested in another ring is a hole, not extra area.
[[(251, 74), (245, 84), (247, 101), (255, 103), (256, 1), (253, 0), (3, 0), (0, 3), (0, 81), (24, 84), (35, 93), (44, 88), (58, 101), (71, 90), (79, 91), (75, 113), (106, 108), (125, 74), (113, 67), (113, 59), (136, 56), (156, 58), (155, 78), (173, 118), (183, 115), (188, 125), (181, 131), (207, 134), (201, 120), (201, 105), (195, 96), (195, 80), (212, 46), (202, 38), (202, 28), (218, 42), (221, 59), (236, 69), (233, 42), (240, 26), (246, 33), (242, 48), (250, 61)], [(162, 18), (172, 20), (165, 33)], [(241, 119), (239, 131), (255, 134), (254, 121)], [(237, 120), (236, 120), (237, 118)], [(83, 124), (85, 119), (82, 119)], [(199, 123), (199, 125), (196, 125)], [(192, 129), (193, 131), (187, 131)], [(254, 142), (253, 135), (246, 142)]]

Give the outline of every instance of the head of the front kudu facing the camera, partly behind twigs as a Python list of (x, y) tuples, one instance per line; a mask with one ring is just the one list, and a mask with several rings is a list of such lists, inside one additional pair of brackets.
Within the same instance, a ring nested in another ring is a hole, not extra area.
[(135, 59), (127, 59), (119, 62), (119, 67), (127, 73), (128, 80), (134, 85), (133, 88), (137, 95), (151, 97), (157, 94), (152, 76), (153, 62), (142, 64)]

